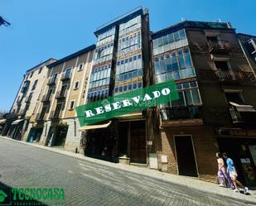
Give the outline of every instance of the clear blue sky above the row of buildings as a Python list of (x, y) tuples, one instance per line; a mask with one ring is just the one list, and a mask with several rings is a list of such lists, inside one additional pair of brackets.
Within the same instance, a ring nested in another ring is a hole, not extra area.
[(148, 7), (152, 31), (186, 20), (231, 22), (256, 35), (254, 0), (0, 0), (0, 110), (9, 109), (27, 69), (95, 43), (94, 31), (135, 7)]

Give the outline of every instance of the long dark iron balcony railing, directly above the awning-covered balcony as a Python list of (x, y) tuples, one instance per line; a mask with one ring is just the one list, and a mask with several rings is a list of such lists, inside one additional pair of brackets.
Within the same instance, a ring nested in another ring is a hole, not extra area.
[(254, 74), (251, 72), (228, 71), (228, 70), (217, 69), (215, 71), (215, 74), (220, 81), (224, 81), (224, 80), (255, 80)]

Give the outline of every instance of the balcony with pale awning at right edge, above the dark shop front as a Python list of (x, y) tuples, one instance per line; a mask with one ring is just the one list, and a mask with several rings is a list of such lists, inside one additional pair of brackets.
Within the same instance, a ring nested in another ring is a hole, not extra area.
[(251, 105), (239, 105), (230, 103), (229, 113), (233, 123), (254, 123), (256, 122), (256, 109)]

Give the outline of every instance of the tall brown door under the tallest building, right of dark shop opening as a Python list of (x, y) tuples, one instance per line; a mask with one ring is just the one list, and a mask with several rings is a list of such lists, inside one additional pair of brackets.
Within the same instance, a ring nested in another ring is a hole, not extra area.
[(130, 141), (131, 162), (147, 164), (145, 121), (131, 122)]

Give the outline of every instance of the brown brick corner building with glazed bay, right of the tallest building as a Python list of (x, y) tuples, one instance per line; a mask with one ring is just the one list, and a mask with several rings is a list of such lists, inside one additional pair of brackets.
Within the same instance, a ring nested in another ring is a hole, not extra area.
[(157, 82), (175, 79), (180, 94), (160, 108), (164, 169), (215, 182), (215, 152), (228, 152), (254, 186), (255, 76), (234, 28), (186, 21), (152, 38)]

